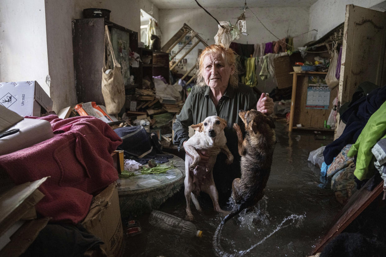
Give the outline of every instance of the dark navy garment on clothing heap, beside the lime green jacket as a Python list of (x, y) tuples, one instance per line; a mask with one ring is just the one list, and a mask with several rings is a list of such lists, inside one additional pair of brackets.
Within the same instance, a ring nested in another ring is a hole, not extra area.
[(386, 86), (371, 91), (367, 96), (359, 98), (350, 104), (341, 119), (346, 121), (346, 127), (339, 138), (328, 144), (323, 151), (324, 162), (330, 165), (334, 158), (347, 144), (354, 144), (361, 134), (370, 116), (386, 101)]

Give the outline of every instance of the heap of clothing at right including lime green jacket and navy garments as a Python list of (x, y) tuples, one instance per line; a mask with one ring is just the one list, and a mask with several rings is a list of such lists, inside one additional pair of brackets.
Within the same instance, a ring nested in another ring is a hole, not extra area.
[(345, 203), (374, 175), (384, 179), (386, 191), (386, 86), (362, 82), (341, 110), (346, 126), (340, 137), (325, 147), (323, 166), (332, 178), (337, 200)]

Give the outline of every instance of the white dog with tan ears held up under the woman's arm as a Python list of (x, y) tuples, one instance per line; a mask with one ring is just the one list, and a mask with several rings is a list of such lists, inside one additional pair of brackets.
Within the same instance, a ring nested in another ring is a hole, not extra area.
[[(224, 128), (227, 121), (218, 116), (207, 117), (203, 122), (192, 125), (195, 134), (186, 141), (184, 148), (185, 156), (185, 198), (186, 198), (186, 219), (193, 220), (190, 210), (190, 199), (193, 201), (196, 209), (201, 212), (202, 209), (195, 195), (203, 191), (212, 198), (213, 207), (217, 212), (224, 212), (218, 205), (218, 192), (213, 181), (213, 166), (215, 165), (218, 153), (223, 152), (227, 155), (226, 164), (233, 162), (233, 155), (227, 147)], [(200, 155), (196, 150), (205, 151), (209, 155), (207, 165), (199, 165)]]

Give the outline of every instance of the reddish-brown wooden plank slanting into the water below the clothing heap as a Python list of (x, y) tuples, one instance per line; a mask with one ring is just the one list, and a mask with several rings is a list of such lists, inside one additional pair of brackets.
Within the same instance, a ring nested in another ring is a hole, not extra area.
[(371, 179), (367, 181), (360, 190), (357, 190), (349, 198), (344, 208), (336, 216), (335, 222), (333, 222), (334, 225), (332, 225), (317, 247), (315, 247), (313, 254), (322, 252), (323, 247), (335, 236), (339, 235), (383, 191), (383, 180), (372, 191), (368, 191), (367, 186), (371, 181)]

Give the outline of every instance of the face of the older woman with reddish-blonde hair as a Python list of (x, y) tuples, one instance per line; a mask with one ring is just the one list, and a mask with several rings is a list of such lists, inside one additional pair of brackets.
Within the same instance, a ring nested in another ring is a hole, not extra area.
[(229, 77), (235, 72), (234, 65), (229, 66), (218, 52), (207, 54), (203, 61), (205, 83), (213, 89), (228, 87)]

